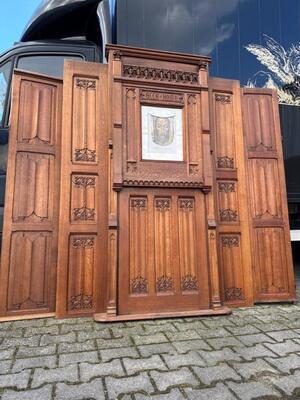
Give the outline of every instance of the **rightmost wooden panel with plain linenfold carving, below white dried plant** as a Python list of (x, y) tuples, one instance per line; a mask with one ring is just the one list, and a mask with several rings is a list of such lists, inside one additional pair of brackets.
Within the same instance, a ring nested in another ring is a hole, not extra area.
[(295, 299), (276, 92), (243, 89), (255, 301)]

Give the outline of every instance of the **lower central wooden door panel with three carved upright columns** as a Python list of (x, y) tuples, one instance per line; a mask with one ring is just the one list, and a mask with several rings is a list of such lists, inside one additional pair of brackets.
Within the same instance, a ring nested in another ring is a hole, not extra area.
[(209, 308), (204, 195), (165, 192), (121, 193), (120, 314)]

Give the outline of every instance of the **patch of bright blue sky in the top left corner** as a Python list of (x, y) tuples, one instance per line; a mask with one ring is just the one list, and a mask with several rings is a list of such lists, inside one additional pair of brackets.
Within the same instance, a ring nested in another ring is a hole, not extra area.
[(0, 0), (0, 54), (18, 42), (41, 0)]

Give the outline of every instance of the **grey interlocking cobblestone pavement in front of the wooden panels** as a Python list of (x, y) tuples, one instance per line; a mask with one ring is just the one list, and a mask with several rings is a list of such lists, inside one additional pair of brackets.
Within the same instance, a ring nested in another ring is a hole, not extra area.
[(0, 399), (300, 399), (300, 306), (0, 323)]

